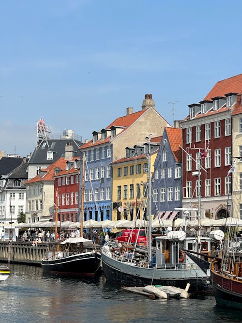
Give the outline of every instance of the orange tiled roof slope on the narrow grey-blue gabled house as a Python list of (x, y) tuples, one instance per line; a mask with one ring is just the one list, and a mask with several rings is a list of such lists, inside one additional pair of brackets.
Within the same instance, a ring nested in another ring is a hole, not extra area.
[(166, 127), (167, 138), (170, 143), (171, 151), (177, 162), (181, 161), (181, 148), (182, 147), (182, 129)]

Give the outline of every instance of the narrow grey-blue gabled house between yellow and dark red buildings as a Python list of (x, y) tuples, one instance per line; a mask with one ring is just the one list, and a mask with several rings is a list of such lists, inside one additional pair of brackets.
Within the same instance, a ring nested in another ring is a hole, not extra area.
[(164, 215), (181, 208), (182, 130), (166, 127), (154, 162), (152, 214)]

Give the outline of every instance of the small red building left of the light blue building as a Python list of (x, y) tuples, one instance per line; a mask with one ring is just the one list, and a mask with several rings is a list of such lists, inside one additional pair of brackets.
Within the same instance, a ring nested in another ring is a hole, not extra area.
[[(57, 198), (54, 204), (54, 214), (58, 214), (60, 221), (78, 221), (79, 172), (80, 158), (67, 160), (64, 169), (54, 168), (54, 196)], [(57, 210), (56, 205), (58, 205)]]

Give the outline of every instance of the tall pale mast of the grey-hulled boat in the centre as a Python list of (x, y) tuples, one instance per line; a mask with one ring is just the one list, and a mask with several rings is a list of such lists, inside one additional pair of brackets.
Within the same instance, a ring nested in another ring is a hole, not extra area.
[(148, 142), (148, 203), (147, 203), (147, 214), (148, 214), (148, 220), (149, 220), (149, 227), (148, 227), (148, 255), (149, 255), (149, 261), (152, 259), (152, 253), (151, 253), (151, 151), (150, 151), (150, 143), (151, 138), (146, 137), (145, 138)]

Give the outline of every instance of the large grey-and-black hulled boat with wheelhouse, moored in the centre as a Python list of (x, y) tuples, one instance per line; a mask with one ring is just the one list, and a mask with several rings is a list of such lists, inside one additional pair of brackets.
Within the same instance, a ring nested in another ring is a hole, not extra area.
[[(184, 254), (182, 247), (195, 249), (202, 240), (186, 237), (185, 231), (175, 231), (174, 225), (166, 235), (151, 241), (151, 155), (148, 139), (148, 246), (139, 246), (117, 240), (108, 240), (102, 247), (103, 272), (108, 282), (122, 286), (169, 285), (189, 292), (211, 290), (209, 277)], [(175, 219), (174, 219), (175, 220)], [(131, 240), (130, 240), (131, 241)], [(209, 238), (204, 243), (209, 245)], [(189, 284), (189, 285), (187, 285)]]

